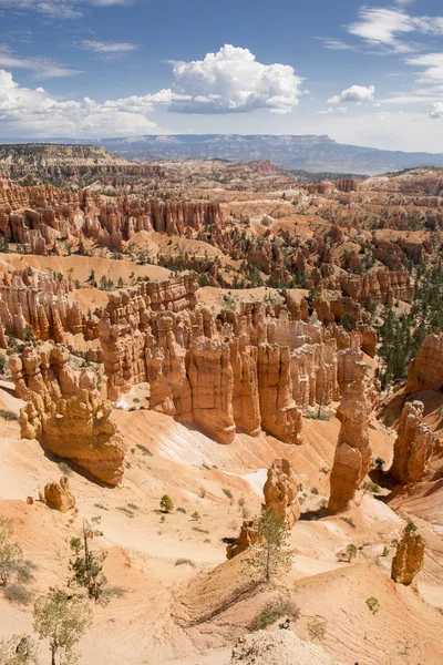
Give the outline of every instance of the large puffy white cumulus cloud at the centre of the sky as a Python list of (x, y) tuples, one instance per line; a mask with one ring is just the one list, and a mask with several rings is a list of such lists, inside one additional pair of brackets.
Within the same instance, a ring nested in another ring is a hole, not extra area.
[(303, 81), (288, 64), (261, 64), (248, 50), (225, 44), (203, 60), (175, 61), (171, 111), (239, 113), (267, 109), (290, 113)]

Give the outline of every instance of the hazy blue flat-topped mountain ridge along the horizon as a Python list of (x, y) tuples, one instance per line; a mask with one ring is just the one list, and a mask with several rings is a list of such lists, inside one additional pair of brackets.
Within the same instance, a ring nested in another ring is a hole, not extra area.
[[(4, 143), (28, 141), (8, 139)], [(0, 143), (2, 142), (0, 139)], [(313, 173), (330, 171), (375, 175), (416, 166), (443, 166), (442, 153), (406, 153), (362, 147), (337, 143), (329, 136), (315, 134), (158, 134), (103, 140), (45, 139), (44, 143), (103, 145), (121, 158), (137, 162), (188, 158), (240, 162), (270, 160), (280, 167)]]

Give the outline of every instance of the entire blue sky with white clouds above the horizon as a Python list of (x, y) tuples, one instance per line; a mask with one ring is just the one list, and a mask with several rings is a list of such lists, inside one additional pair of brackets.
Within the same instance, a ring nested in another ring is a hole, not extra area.
[(441, 0), (0, 0), (0, 136), (443, 152)]

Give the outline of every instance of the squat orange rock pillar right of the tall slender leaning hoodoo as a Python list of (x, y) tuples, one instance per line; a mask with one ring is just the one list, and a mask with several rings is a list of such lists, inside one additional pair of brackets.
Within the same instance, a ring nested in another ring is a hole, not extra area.
[(390, 474), (400, 484), (420, 482), (434, 450), (434, 434), (423, 422), (424, 405), (406, 402), (403, 407)]

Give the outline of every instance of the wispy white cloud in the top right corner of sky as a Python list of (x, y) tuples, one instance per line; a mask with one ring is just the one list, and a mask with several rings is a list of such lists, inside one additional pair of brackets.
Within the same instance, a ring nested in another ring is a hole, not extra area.
[[(408, 2), (399, 2), (408, 4)], [(369, 44), (387, 47), (396, 53), (413, 51), (413, 47), (399, 41), (412, 32), (443, 34), (442, 17), (413, 17), (402, 9), (363, 7), (358, 12), (359, 20), (348, 25), (350, 34), (360, 37)]]

